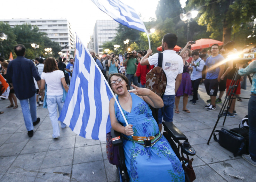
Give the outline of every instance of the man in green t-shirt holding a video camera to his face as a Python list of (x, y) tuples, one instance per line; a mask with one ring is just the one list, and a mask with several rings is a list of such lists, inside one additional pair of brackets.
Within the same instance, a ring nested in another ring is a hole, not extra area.
[(123, 62), (123, 66), (127, 65), (126, 77), (128, 78), (128, 81), (129, 81), (128, 90), (130, 90), (131, 80), (133, 80), (134, 85), (139, 87), (138, 77), (136, 75), (137, 66), (135, 65), (135, 63), (138, 62), (137, 59), (135, 58), (137, 55), (137, 52), (132, 51), (131, 53), (132, 53), (131, 55), (129, 53), (127, 54), (127, 57)]

